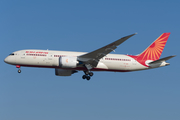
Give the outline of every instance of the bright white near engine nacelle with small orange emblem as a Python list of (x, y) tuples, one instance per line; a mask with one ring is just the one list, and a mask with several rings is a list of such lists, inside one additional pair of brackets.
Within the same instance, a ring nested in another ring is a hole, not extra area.
[(62, 68), (75, 68), (78, 64), (77, 57), (60, 57), (59, 58), (59, 67)]

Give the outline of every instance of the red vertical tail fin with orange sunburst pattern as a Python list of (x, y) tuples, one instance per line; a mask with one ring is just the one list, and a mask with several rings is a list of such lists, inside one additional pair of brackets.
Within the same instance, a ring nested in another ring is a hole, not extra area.
[(138, 58), (142, 60), (158, 60), (166, 45), (170, 33), (163, 33), (157, 38), (146, 50), (144, 50)]

